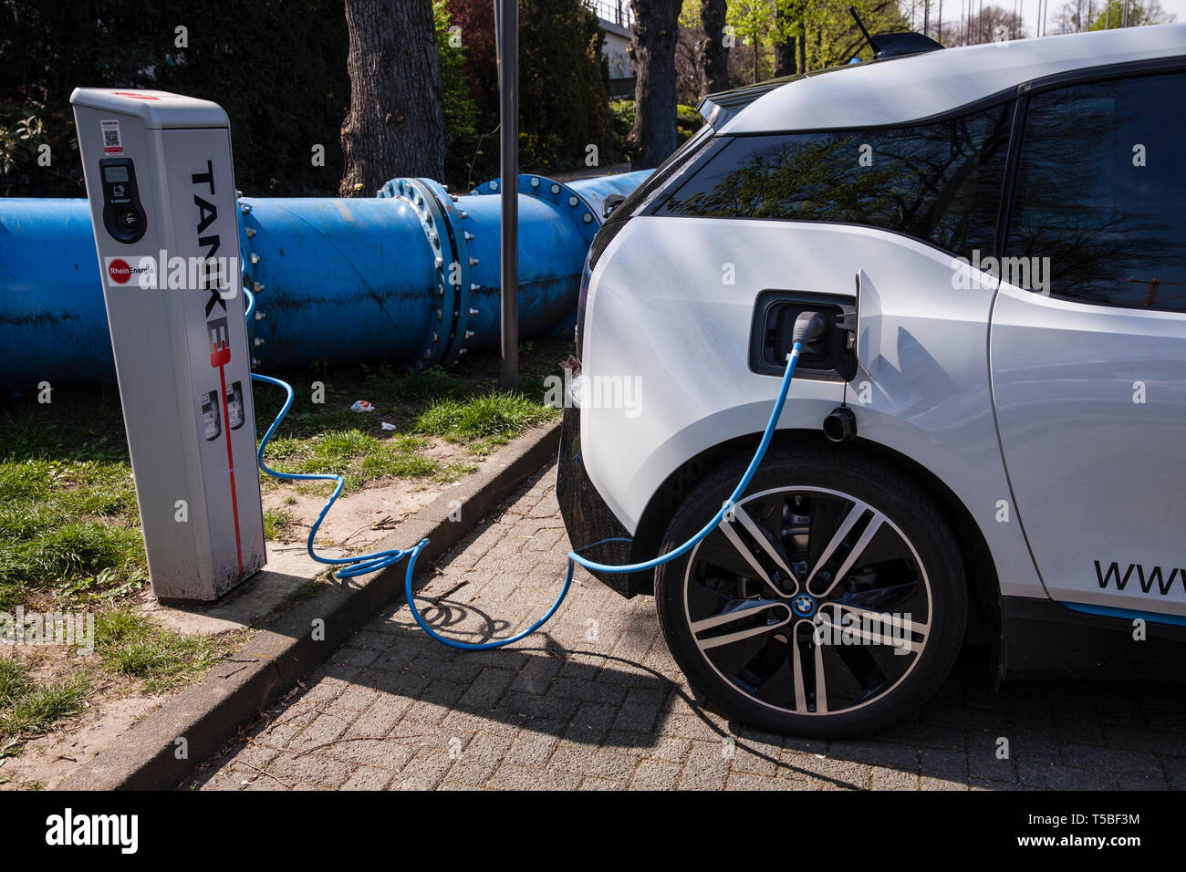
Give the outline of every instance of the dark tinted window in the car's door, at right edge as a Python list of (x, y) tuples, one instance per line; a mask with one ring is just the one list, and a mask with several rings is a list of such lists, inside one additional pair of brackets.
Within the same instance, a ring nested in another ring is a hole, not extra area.
[(1174, 72), (1031, 98), (1008, 254), (1044, 281), (1018, 284), (1080, 303), (1186, 312), (1182, 94), (1186, 74)]

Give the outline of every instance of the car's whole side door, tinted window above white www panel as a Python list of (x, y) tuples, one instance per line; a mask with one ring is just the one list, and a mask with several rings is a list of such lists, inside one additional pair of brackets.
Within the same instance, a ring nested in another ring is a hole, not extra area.
[(1186, 72), (1034, 89), (989, 336), (1051, 597), (1186, 623)]

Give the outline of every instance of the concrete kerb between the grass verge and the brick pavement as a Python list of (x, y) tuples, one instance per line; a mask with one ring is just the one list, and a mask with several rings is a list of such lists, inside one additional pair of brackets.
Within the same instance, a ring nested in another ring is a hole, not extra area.
[[(463, 479), (375, 549), (407, 547), (428, 537), (417, 564), (422, 571), (472, 530), (523, 479), (555, 459), (560, 425), (525, 433), (492, 454), (478, 472)], [(457, 502), (454, 502), (457, 501)], [(457, 505), (460, 503), (460, 517)], [(183, 690), (129, 730), (63, 783), (65, 790), (160, 790), (177, 787), (195, 768), (213, 757), (268, 705), (323, 662), (359, 626), (403, 596), (403, 561), (374, 575), (327, 586), (281, 615), (243, 650), (219, 663), (197, 685)], [(557, 567), (560, 584), (562, 567)], [(325, 622), (325, 641), (312, 638), (314, 619)], [(178, 739), (186, 755), (179, 758)]]

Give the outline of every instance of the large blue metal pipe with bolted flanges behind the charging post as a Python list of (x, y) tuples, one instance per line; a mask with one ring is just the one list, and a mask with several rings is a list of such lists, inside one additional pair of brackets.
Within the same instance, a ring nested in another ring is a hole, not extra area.
[[(522, 336), (570, 323), (601, 204), (648, 174), (568, 184), (521, 177)], [(425, 367), (497, 345), (499, 209), (491, 193), (497, 180), (454, 199), (428, 179), (393, 179), (376, 198), (242, 198), (244, 286), (256, 291), (254, 335), (262, 340), (255, 357), (276, 368), (365, 359)], [(464, 275), (452, 274), (454, 262)], [(87, 201), (0, 198), (0, 387), (114, 376)]]

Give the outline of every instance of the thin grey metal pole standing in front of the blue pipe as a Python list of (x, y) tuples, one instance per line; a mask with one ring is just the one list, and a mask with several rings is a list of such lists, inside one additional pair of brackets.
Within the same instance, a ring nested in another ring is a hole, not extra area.
[(502, 350), (498, 384), (518, 390), (518, 0), (495, 0), (498, 116), (502, 122)]

